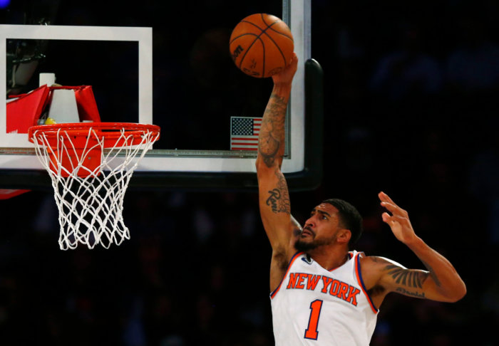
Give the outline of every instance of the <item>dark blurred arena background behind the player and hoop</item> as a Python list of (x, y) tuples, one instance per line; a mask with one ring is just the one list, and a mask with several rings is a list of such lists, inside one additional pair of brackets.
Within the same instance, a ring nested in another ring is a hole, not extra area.
[[(0, 10), (4, 23), (48, 11), (59, 25), (153, 26), (155, 112), (175, 83), (179, 97), (208, 112), (237, 85), (229, 80), (239, 71), (213, 61), (205, 73), (219, 88), (194, 83), (194, 65), (168, 53), (179, 37), (196, 41), (202, 28), (192, 23), (210, 18), (223, 36), (248, 14), (281, 13), (279, 4), (235, 1), (11, 6)], [(382, 190), (468, 288), (453, 304), (389, 295), (371, 345), (499, 344), (498, 16), (497, 2), (485, 0), (312, 1), (312, 57), (324, 70), (324, 179), (292, 192), (292, 213), (303, 223), (322, 199), (351, 201), (364, 215), (357, 250), (423, 268), (382, 223)], [(268, 97), (268, 82), (241, 88), (264, 85)], [(130, 241), (91, 251), (58, 249), (49, 190), (0, 204), (1, 345), (273, 345), (270, 247), (256, 192), (130, 190)]]

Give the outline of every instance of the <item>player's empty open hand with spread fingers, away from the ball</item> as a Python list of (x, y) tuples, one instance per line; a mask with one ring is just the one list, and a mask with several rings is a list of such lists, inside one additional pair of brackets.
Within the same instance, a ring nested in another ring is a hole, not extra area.
[(381, 218), (390, 226), (393, 235), (404, 244), (415, 240), (417, 236), (414, 233), (407, 211), (396, 205), (384, 192), (380, 192), (378, 196), (381, 206), (390, 212), (389, 214), (385, 211), (381, 214)]

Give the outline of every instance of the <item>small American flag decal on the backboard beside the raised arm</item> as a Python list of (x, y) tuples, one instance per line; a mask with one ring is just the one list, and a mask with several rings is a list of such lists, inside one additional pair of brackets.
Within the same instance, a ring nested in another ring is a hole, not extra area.
[(230, 150), (258, 149), (261, 117), (230, 117)]

